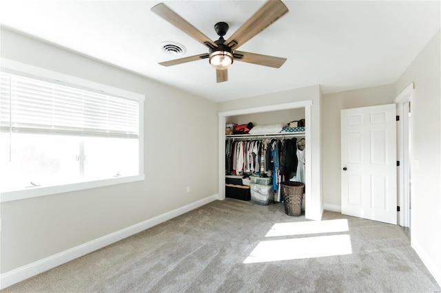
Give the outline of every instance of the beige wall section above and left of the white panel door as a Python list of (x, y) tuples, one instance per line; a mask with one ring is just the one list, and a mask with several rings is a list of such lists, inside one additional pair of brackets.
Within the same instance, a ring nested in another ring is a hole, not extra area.
[(341, 110), (391, 104), (393, 98), (393, 85), (323, 95), (322, 193), (325, 210), (341, 211)]

